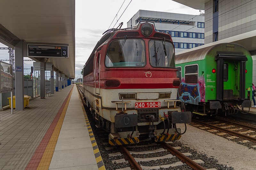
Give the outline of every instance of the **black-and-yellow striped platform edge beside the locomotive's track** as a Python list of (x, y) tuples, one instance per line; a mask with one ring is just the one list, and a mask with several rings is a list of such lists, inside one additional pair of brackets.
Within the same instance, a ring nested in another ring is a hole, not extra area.
[(85, 122), (86, 122), (86, 125), (87, 125), (87, 129), (88, 129), (88, 132), (89, 132), (89, 135), (90, 135), (90, 138), (91, 138), (92, 149), (93, 149), (93, 152), (94, 152), (94, 156), (95, 156), (95, 159), (96, 159), (98, 168), (99, 168), (99, 170), (104, 170), (104, 169), (106, 169), (106, 168), (105, 168), (105, 166), (104, 166), (102, 157), (101, 157), (101, 155), (100, 155), (100, 150), (99, 150), (99, 148), (98, 148), (97, 142), (96, 142), (95, 137), (94, 137), (94, 135), (93, 135), (92, 127), (91, 127), (91, 125), (90, 125), (89, 119), (88, 119), (87, 114), (86, 114), (86, 112), (85, 112), (85, 109), (84, 109), (84, 105), (83, 105), (81, 96), (80, 96), (80, 102), (81, 102), (81, 105), (82, 105), (82, 109), (83, 109), (83, 113), (84, 113), (84, 118), (85, 118)]

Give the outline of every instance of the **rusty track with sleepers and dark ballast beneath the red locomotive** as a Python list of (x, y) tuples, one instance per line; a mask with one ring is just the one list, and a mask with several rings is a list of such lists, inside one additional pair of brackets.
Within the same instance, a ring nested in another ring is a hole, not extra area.
[[(85, 106), (82, 95), (82, 86), (77, 85), (77, 88), (79, 90), (80, 98)], [(168, 143), (171, 143), (171, 145), (174, 145), (175, 147), (172, 147), (170, 144), (165, 142), (155, 143), (151, 140), (141, 140), (139, 144), (133, 146), (110, 146), (108, 144), (108, 135), (106, 135), (106, 131), (94, 128), (93, 121), (90, 121), (90, 123), (92, 123), (91, 126), (94, 131), (95, 139), (97, 140), (97, 144), (99, 146), (106, 169), (137, 170), (163, 169), (173, 167), (174, 169), (178, 168), (205, 170), (203, 166), (206, 168), (222, 166), (220, 164), (217, 166), (213, 165), (215, 164), (215, 161), (209, 165), (209, 163), (206, 162), (212, 158), (205, 159), (205, 156), (194, 155), (195, 151), (191, 149), (186, 150), (182, 146), (179, 147), (176, 145), (176, 143), (173, 144), (172, 142)], [(193, 153), (193, 155), (191, 153)], [(204, 159), (201, 160), (201, 158)]]

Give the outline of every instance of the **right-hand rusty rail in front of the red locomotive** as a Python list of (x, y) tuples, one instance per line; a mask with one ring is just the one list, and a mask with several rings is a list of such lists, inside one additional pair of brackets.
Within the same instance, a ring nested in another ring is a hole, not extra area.
[(181, 159), (181, 162), (186, 163), (188, 166), (190, 166), (193, 169), (196, 170), (206, 170), (203, 166), (199, 165), (198, 163), (196, 163), (194, 160), (188, 158), (187, 156), (185, 156), (183, 153), (181, 153), (180, 151), (178, 151), (177, 149), (174, 149), (172, 146), (170, 146), (169, 144), (165, 143), (165, 142), (160, 142), (160, 144), (166, 148), (169, 152), (172, 153), (172, 155), (175, 155), (176, 157), (178, 157), (179, 159)]

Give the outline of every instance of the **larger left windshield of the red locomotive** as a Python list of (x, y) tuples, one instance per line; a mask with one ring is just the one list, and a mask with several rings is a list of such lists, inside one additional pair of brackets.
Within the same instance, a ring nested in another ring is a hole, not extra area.
[(110, 43), (106, 67), (143, 67), (146, 65), (145, 42), (141, 39), (116, 40)]

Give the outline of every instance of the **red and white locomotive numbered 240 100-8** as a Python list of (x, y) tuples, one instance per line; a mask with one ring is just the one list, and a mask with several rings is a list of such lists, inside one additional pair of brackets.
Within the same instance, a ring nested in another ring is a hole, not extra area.
[(98, 41), (84, 67), (84, 99), (98, 128), (109, 131), (109, 144), (177, 140), (176, 123), (191, 113), (176, 106), (172, 38), (144, 22), (133, 28), (110, 29)]

